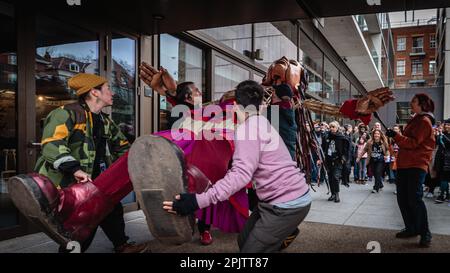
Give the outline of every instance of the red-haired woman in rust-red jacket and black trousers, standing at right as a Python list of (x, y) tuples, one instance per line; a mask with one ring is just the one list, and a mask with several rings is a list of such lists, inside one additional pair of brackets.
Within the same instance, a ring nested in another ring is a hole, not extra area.
[(408, 122), (403, 135), (389, 129), (387, 136), (395, 139), (400, 150), (397, 158), (397, 202), (405, 229), (397, 238), (420, 235), (420, 246), (429, 247), (431, 233), (423, 197), (423, 183), (428, 172), (436, 140), (432, 112), (434, 102), (426, 94), (417, 94), (411, 101), (414, 117)]

